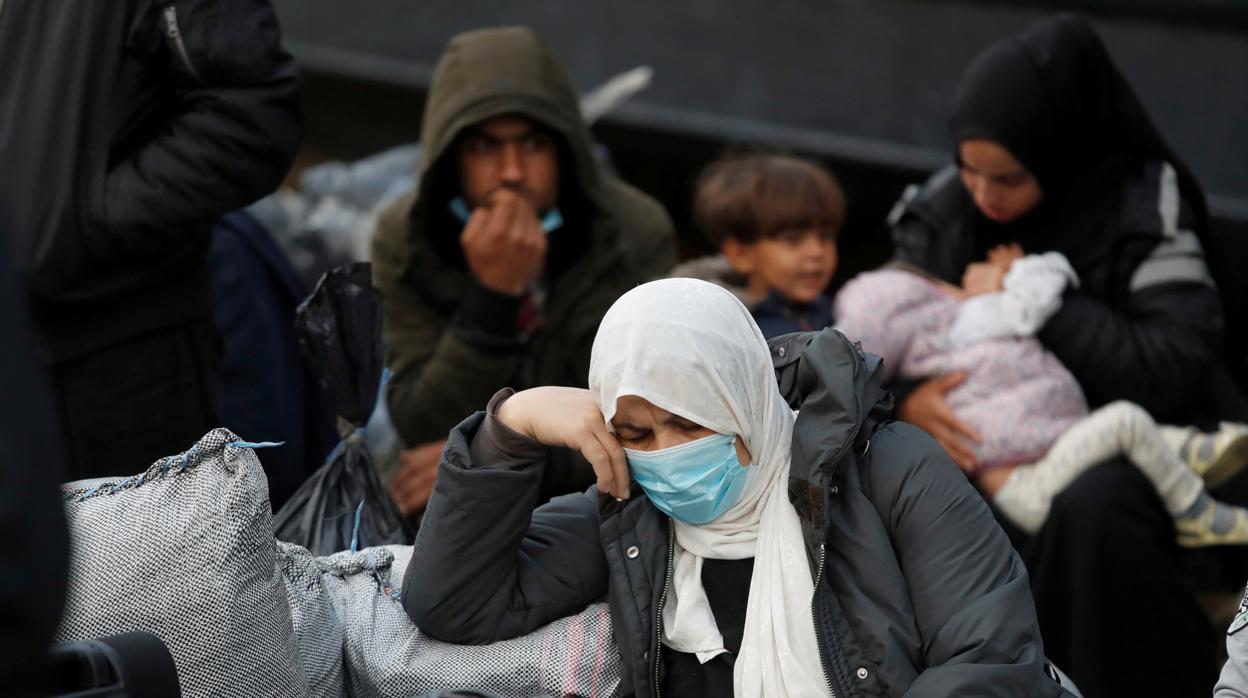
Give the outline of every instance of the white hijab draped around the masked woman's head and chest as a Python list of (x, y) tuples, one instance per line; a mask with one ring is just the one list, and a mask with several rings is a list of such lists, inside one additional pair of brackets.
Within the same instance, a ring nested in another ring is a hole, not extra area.
[(739, 698), (826, 696), (811, 612), (814, 581), (787, 497), (794, 415), (766, 340), (730, 292), (693, 278), (638, 286), (603, 317), (589, 390), (610, 428), (620, 396), (643, 397), (719, 433), (740, 436), (758, 473), (718, 519), (674, 521), (663, 642), (701, 662), (728, 652), (701, 586), (703, 561), (754, 558), (745, 634), (733, 669)]

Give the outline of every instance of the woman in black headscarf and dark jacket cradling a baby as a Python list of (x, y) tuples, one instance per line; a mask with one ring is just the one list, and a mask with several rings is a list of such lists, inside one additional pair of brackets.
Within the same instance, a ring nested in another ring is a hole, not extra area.
[[(1046, 20), (982, 52), (952, 131), (957, 169), (899, 205), (899, 260), (991, 292), (1008, 265), (987, 257), (1002, 246), (1061, 252), (1078, 285), (1037, 337), (1090, 406), (1132, 401), (1172, 423), (1244, 418), (1222, 363), (1238, 328), (1224, 322), (1204, 196), (1086, 21)], [(943, 397), (960, 380), (927, 381), (899, 415), (973, 467), (973, 430)], [(1164, 513), (1138, 472), (1111, 461), (1071, 483), (1023, 544), (1050, 652), (1090, 696), (1213, 684), (1214, 637)]]

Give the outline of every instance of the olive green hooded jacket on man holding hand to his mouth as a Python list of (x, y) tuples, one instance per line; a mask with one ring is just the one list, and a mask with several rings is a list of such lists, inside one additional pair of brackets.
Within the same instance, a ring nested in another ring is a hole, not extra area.
[[(567, 222), (550, 238), (545, 322), (528, 338), (515, 331), (520, 300), (475, 282), (458, 242), (462, 226), (447, 215), (459, 194), (457, 137), (504, 114), (527, 116), (560, 141)], [(584, 386), (603, 313), (675, 263), (666, 212), (594, 161), (572, 81), (528, 29), (451, 41), (433, 75), (421, 142), (418, 189), (382, 214), (373, 240), (392, 372), (387, 405), (408, 446), (446, 438), (500, 387)]]

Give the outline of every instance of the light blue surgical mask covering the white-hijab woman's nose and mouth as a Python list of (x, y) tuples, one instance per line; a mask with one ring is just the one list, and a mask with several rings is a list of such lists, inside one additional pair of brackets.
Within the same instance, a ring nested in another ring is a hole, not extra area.
[(741, 467), (735, 442), (718, 433), (660, 451), (625, 448), (624, 455), (659, 511), (696, 526), (723, 516), (745, 492), (751, 468)]

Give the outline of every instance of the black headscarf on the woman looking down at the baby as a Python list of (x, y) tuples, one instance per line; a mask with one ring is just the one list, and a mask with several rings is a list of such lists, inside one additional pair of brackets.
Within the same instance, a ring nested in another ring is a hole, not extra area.
[(1116, 241), (1106, 230), (1123, 185), (1146, 160), (1178, 175), (1179, 195), (1207, 237), (1199, 182), (1166, 144), (1092, 26), (1075, 15), (1033, 24), (988, 46), (962, 75), (951, 121), (955, 141), (1008, 150), (1040, 182), (1041, 204), (1010, 224), (970, 214), (976, 247), (1021, 242), (1063, 252), (1081, 276), (1101, 271)]

